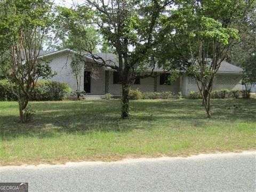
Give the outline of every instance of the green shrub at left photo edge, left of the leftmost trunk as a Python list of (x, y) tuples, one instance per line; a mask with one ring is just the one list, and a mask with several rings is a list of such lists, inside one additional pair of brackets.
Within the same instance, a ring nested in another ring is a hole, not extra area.
[[(15, 88), (15, 85), (14, 85)], [(0, 80), (0, 101), (15, 101), (17, 97), (11, 91), (11, 84), (7, 79)]]

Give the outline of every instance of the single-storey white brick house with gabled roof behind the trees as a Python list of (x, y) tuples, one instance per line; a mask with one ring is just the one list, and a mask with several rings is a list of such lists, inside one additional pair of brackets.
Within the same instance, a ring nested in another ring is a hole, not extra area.
[[(52, 71), (57, 73), (57, 75), (50, 79), (51, 81), (68, 83), (73, 90), (76, 90), (76, 79), (70, 67), (74, 53), (74, 51), (69, 49), (42, 51), (40, 58), (51, 60), (50, 66)], [(117, 60), (115, 54), (97, 53), (97, 55), (105, 60)], [(107, 67), (94, 67), (95, 61), (89, 56), (85, 57), (87, 65), (85, 65), (84, 74), (81, 79), (81, 90), (91, 95), (104, 95), (106, 93), (122, 95), (122, 85), (120, 84), (118, 73)], [(171, 83), (167, 82), (168, 73), (164, 73), (163, 69), (155, 69), (154, 75), (157, 76), (136, 79), (132, 89), (139, 89), (141, 92), (171, 91), (178, 93), (180, 91), (184, 95), (188, 95), (190, 91), (198, 91), (195, 79), (185, 74)], [(241, 90), (241, 81), (242, 68), (223, 61), (217, 73), (217, 78), (214, 79), (213, 89)]]

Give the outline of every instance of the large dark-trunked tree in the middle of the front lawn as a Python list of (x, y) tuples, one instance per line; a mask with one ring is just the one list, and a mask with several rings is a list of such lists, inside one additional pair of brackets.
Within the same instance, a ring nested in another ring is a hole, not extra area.
[(89, 43), (79, 49), (89, 52), (99, 66), (109, 67), (119, 73), (122, 84), (122, 118), (129, 118), (129, 90), (135, 78), (146, 77), (143, 74), (148, 67), (154, 69), (153, 47), (158, 30), (159, 16), (167, 0), (85, 0), (79, 6), (92, 7), (95, 10), (94, 21), (105, 39), (107, 46), (114, 48), (115, 60), (105, 60), (95, 54), (95, 46)]

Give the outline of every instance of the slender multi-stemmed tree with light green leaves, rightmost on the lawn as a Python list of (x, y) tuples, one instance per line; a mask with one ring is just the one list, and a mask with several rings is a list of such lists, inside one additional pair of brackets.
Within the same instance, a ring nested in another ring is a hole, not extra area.
[(239, 26), (233, 23), (243, 18), (250, 5), (246, 1), (181, 1), (163, 18), (162, 60), (167, 66), (178, 63), (196, 79), (208, 118), (214, 78), (230, 46), (239, 39)]

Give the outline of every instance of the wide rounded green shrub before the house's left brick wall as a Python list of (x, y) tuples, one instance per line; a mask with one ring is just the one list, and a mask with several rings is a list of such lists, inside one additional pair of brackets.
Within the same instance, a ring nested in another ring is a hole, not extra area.
[(38, 81), (33, 91), (31, 100), (58, 101), (66, 98), (71, 88), (67, 83), (52, 81)]

